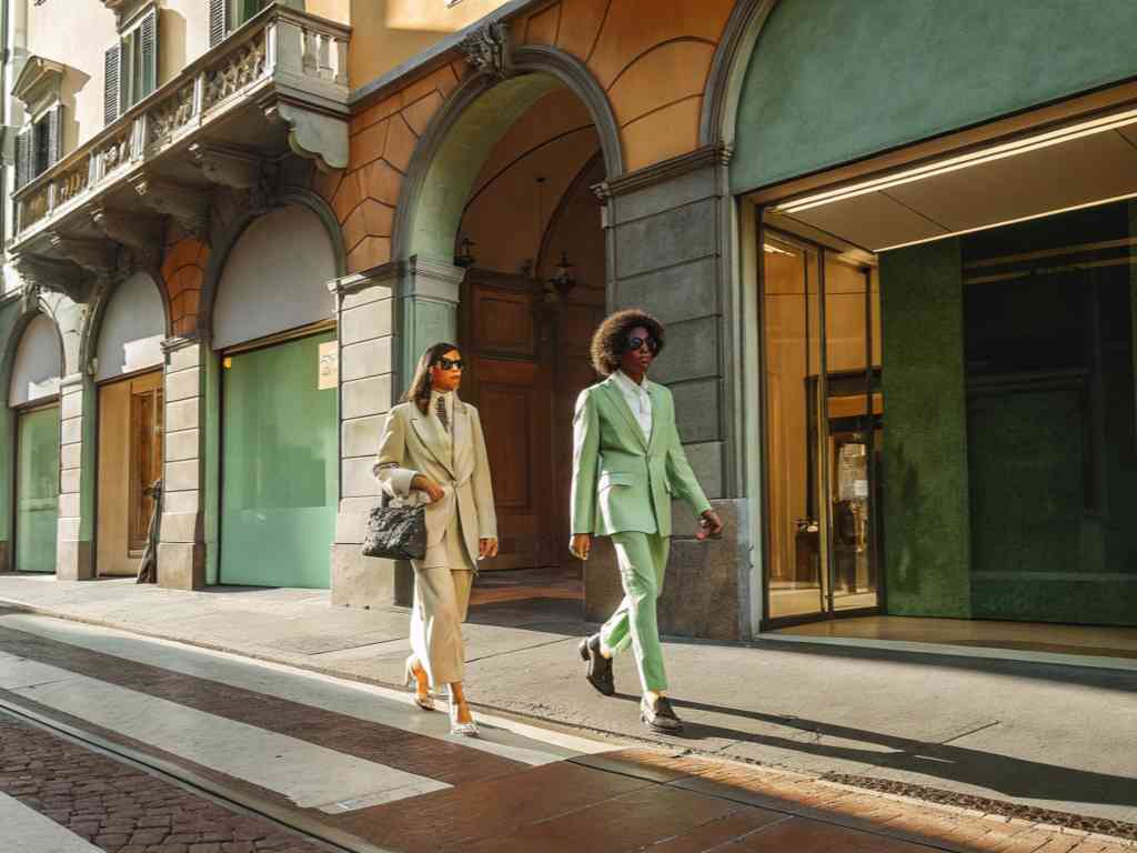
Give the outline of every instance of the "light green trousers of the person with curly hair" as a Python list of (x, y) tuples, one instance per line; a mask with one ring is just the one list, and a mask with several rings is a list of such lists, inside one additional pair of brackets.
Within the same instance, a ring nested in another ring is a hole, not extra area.
[(613, 654), (630, 645), (636, 655), (640, 686), (658, 693), (667, 688), (656, 621), (656, 599), (663, 591), (671, 539), (656, 533), (613, 533), (624, 599), (600, 628), (600, 643)]

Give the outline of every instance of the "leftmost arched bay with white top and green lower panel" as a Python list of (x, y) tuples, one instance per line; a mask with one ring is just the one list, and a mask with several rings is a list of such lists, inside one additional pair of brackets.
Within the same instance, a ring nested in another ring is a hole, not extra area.
[(59, 381), (56, 324), (36, 315), (24, 330), (8, 405), (16, 415), (15, 561), (17, 572), (56, 571), (59, 522)]

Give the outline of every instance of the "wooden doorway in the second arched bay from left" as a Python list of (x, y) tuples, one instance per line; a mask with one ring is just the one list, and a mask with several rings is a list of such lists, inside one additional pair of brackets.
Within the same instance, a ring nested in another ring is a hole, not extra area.
[(161, 478), (163, 372), (99, 387), (99, 491), (96, 570), (138, 574)]

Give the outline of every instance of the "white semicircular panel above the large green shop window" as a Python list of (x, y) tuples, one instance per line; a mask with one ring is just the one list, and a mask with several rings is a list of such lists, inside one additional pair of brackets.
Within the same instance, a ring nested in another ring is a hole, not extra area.
[(316, 214), (289, 206), (254, 222), (230, 252), (214, 303), (215, 349), (335, 314), (332, 241)]

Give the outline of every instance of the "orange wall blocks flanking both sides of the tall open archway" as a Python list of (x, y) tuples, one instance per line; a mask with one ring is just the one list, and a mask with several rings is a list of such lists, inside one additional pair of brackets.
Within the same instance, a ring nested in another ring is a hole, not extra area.
[[(607, 92), (625, 168), (634, 172), (698, 147), (703, 89), (733, 3), (558, 0), (514, 19), (511, 34), (515, 44), (553, 44), (584, 63)], [(359, 35), (352, 52), (364, 49)], [(390, 260), (395, 207), (415, 146), (466, 71), (451, 63), (355, 116), (350, 165), (317, 176), (315, 189), (343, 229), (350, 272)]]

